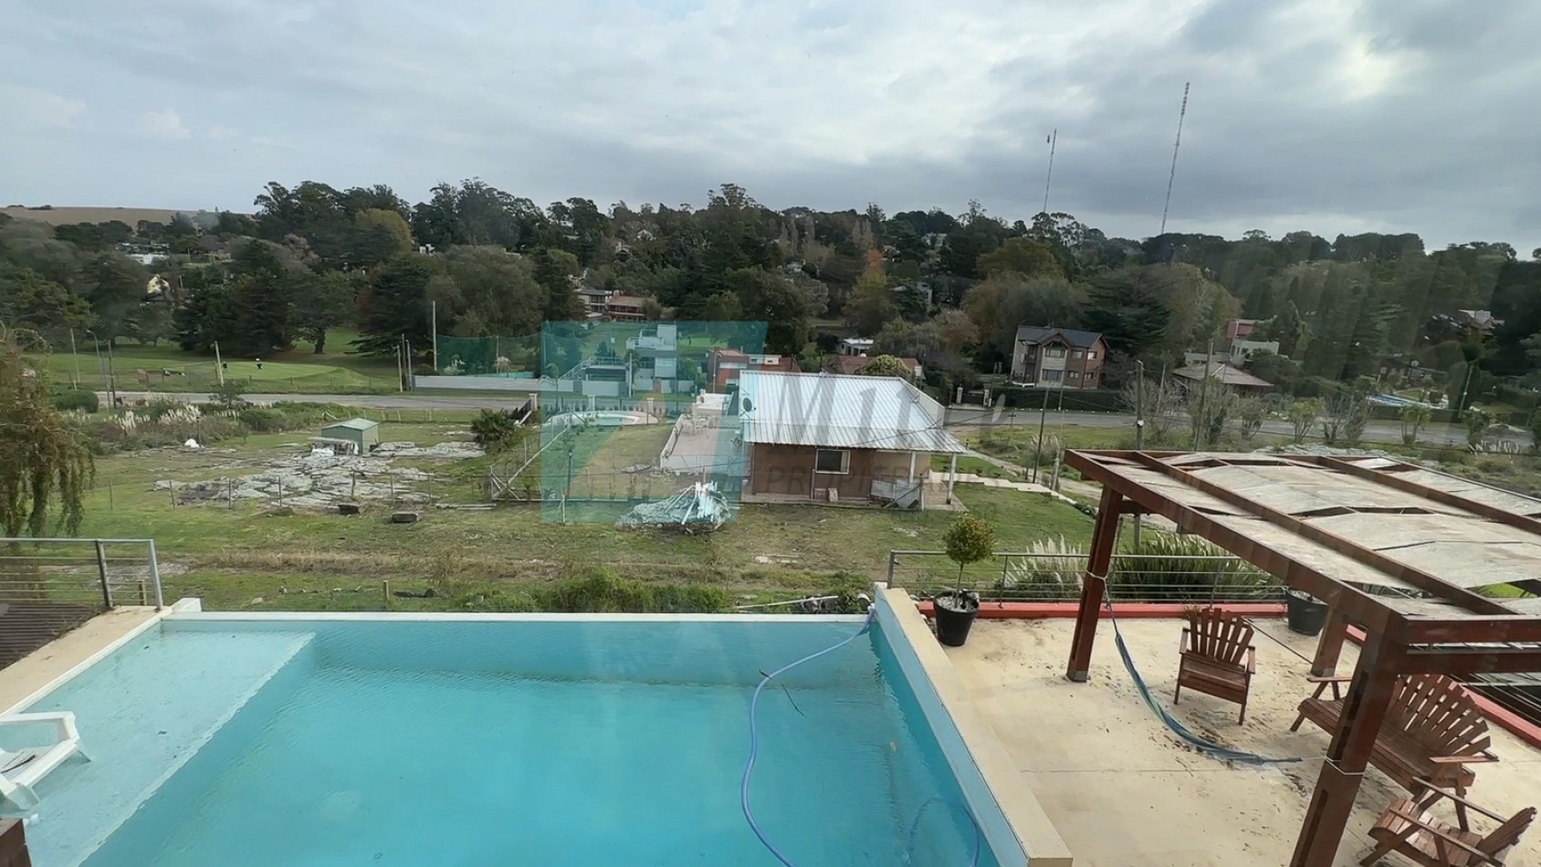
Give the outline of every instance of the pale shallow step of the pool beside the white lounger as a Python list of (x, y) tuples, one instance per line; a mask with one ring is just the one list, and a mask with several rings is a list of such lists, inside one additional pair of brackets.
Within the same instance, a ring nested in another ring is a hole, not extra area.
[(257, 695), (291, 693), (310, 668), (313, 638), (151, 631), (28, 708), (74, 711), (92, 759), (60, 767), (39, 787), (39, 821), (26, 832), (34, 859), (89, 856)]

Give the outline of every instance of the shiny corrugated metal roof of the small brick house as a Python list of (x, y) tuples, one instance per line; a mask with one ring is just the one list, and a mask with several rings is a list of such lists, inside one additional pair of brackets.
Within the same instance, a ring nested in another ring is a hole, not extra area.
[(968, 451), (943, 430), (942, 405), (892, 376), (743, 371), (744, 442)]

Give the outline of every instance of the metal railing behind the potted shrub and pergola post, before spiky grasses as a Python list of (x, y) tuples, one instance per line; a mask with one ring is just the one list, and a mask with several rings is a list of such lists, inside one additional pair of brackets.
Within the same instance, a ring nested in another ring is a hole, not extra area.
[[(963, 585), (1000, 602), (1069, 602), (1080, 598), (1083, 553), (997, 551), (959, 567), (945, 551), (889, 551), (888, 582), (915, 594)], [(1285, 584), (1241, 557), (1114, 554), (1108, 596), (1119, 602), (1282, 602)]]

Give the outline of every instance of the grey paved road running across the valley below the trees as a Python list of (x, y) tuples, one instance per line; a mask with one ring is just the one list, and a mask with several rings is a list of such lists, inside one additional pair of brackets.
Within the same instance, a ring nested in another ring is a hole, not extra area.
[[(163, 394), (163, 393), (159, 393)], [(106, 393), (99, 393), (106, 402)], [(125, 400), (143, 400), (143, 391), (119, 391)], [(371, 410), (505, 410), (524, 402), (525, 394), (433, 394), (424, 391), (404, 394), (245, 394), (253, 403), (276, 403), (293, 400), (297, 403), (341, 403), (344, 407), (368, 407)], [(948, 407), (948, 427), (991, 427), (1016, 425), (1036, 427), (1039, 413), (1036, 410), (995, 411), (979, 407)], [(1046, 414), (1049, 425), (1080, 425), (1088, 428), (1123, 428), (1134, 430), (1134, 416), (1126, 413), (1056, 413)], [(1179, 423), (1179, 430), (1185, 430)], [(1290, 436), (1293, 428), (1288, 422), (1270, 419), (1262, 430), (1271, 434)], [(1319, 436), (1318, 431), (1311, 431)], [(1367, 442), (1402, 442), (1402, 425), (1399, 422), (1370, 422), (1365, 427)], [(1465, 428), (1461, 425), (1429, 425), (1418, 434), (1419, 442), (1436, 445), (1465, 445)]]

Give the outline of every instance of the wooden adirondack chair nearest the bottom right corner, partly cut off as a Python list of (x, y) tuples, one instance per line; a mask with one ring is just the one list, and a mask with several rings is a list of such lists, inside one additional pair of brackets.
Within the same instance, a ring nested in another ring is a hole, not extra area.
[[(1501, 824), (1487, 836), (1461, 830), (1430, 815), (1430, 808), (1441, 799), (1449, 799), (1462, 813), (1470, 810)], [(1526, 833), (1535, 818), (1536, 808), (1526, 807), (1506, 821), (1498, 813), (1490, 813), (1455, 792), (1429, 787), (1416, 801), (1398, 798), (1381, 813), (1381, 818), (1370, 829), (1370, 836), (1376, 841), (1375, 850), (1359, 864), (1368, 867), (1395, 852), (1424, 867), (1502, 867), (1504, 858), (1519, 842), (1519, 836)]]

